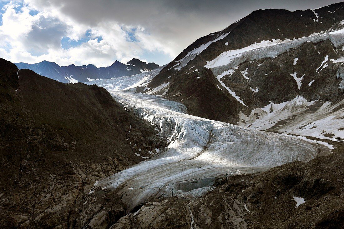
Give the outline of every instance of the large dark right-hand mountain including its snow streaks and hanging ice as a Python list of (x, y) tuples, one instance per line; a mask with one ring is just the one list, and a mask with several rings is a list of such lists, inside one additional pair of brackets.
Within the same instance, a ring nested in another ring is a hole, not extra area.
[(191, 114), (237, 123), (303, 96), (343, 99), (343, 3), (315, 10), (258, 10), (204, 36), (164, 67), (143, 91), (180, 101)]

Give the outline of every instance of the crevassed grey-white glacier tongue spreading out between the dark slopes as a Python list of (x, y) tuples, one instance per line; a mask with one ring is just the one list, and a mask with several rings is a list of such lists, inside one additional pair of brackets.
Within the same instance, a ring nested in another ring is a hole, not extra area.
[(265, 171), (295, 160), (309, 161), (318, 154), (319, 145), (195, 117), (186, 113), (184, 105), (158, 96), (110, 93), (125, 109), (157, 125), (170, 141), (152, 159), (96, 185), (116, 189), (127, 212), (161, 196), (201, 195), (219, 176)]

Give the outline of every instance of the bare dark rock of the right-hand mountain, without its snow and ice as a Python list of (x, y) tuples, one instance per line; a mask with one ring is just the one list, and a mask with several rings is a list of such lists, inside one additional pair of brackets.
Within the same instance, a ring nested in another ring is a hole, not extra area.
[[(240, 104), (225, 88), (219, 85), (216, 76), (211, 70), (204, 67), (207, 61), (213, 60), (225, 51), (247, 47), (265, 40), (292, 40), (309, 36), (333, 29), (333, 25), (344, 20), (343, 2), (314, 11), (318, 14), (318, 18), (312, 10), (254, 11), (226, 29), (195, 41), (164, 67), (147, 87), (155, 88), (169, 82), (166, 98), (182, 102), (190, 113), (196, 116), (230, 123), (238, 122), (239, 111), (248, 114), (254, 108), (265, 107), (270, 100), (280, 103), (295, 98), (296, 95), (301, 95), (311, 100), (339, 101), (343, 99), (343, 91), (338, 88), (341, 79), (337, 79), (336, 75), (340, 63), (326, 62), (329, 65), (322, 71), (316, 72), (316, 69), (324, 61), (324, 56), (329, 55), (329, 59), (337, 59), (343, 54), (343, 51), (334, 48), (329, 40), (314, 44), (304, 43), (301, 47), (287, 50), (276, 58), (257, 58), (255, 61), (241, 63), (233, 74), (225, 76), (223, 78), (225, 85), (235, 91), (236, 95), (245, 101), (245, 104), (247, 103), (248, 108)], [(173, 66), (190, 51), (226, 33), (229, 34), (222, 40), (210, 44), (181, 70), (173, 69)], [(228, 45), (224, 45), (225, 42), (228, 42)], [(295, 57), (298, 57), (299, 60), (293, 66)], [(263, 65), (257, 66), (259, 64)], [(280, 66), (281, 64), (283, 66)], [(246, 81), (240, 73), (247, 67), (249, 68), (247, 75), (249, 81)], [(198, 69), (198, 72), (194, 71), (195, 69)], [(271, 71), (272, 73), (270, 73)], [(300, 91), (290, 75), (294, 72), (298, 73), (298, 77), (305, 74), (301, 81)], [(253, 76), (254, 78), (252, 78)], [(315, 80), (314, 83), (307, 87), (312, 79)], [(254, 89), (259, 88), (259, 91), (253, 93), (250, 86)], [(162, 93), (163, 90), (156, 94), (161, 95)]]

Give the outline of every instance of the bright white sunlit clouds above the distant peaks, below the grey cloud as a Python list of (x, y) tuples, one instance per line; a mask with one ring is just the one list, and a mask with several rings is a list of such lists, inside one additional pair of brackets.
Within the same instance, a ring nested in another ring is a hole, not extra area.
[[(0, 38), (3, 40), (0, 55), (12, 62), (37, 63), (48, 60), (60, 65), (94, 64), (100, 67), (109, 66), (117, 59), (142, 59), (145, 52), (174, 55), (171, 50), (166, 52), (168, 49), (164, 49), (160, 41), (139, 25), (99, 21), (96, 25), (87, 26), (66, 17), (58, 7), (39, 9), (30, 2), (18, 6), (14, 2), (4, 6), (0, 26)], [(30, 10), (33, 9), (38, 13), (31, 15)], [(86, 31), (90, 40), (68, 49), (61, 46), (62, 37), (79, 41), (85, 37)], [(128, 31), (134, 31), (131, 36), (135, 41), (132, 41)], [(98, 37), (101, 37), (99, 42)]]

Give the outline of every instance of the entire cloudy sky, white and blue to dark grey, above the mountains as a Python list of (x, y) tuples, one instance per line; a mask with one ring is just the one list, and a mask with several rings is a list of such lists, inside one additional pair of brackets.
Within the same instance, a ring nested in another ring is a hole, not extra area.
[(170, 62), (201, 36), (257, 9), (305, 10), (335, 0), (0, 0), (0, 57), (109, 66)]

